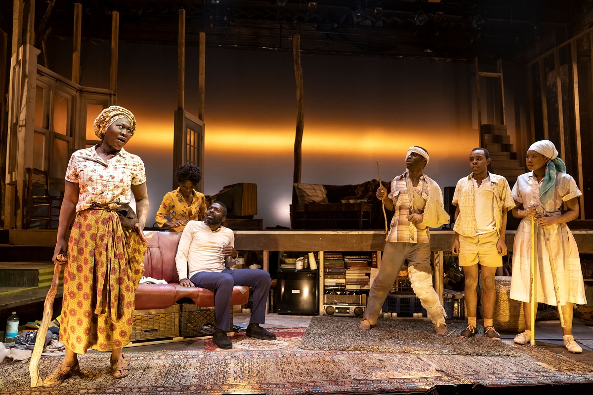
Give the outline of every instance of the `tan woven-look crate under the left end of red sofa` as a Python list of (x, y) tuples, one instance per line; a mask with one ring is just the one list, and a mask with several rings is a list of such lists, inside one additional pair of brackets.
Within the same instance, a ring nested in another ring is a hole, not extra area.
[(167, 309), (134, 310), (132, 341), (179, 336), (179, 305)]

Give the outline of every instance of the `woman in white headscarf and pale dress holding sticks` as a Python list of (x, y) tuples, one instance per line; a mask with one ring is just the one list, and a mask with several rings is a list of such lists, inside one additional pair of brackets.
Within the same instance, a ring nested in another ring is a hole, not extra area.
[[(579, 217), (578, 197), (582, 192), (575, 179), (566, 174), (566, 166), (549, 140), (532, 144), (525, 162), (531, 171), (518, 176), (512, 190), (516, 204), (512, 213), (522, 221), (515, 233), (511, 298), (523, 302), (526, 327), (525, 332), (515, 336), (515, 343), (526, 344), (531, 340), (531, 216), (535, 216), (535, 301), (562, 310), (564, 346), (570, 352), (582, 352), (572, 337), (572, 313), (573, 303), (586, 303), (585, 286), (575, 238), (566, 226)], [(563, 203), (568, 208), (565, 213), (560, 212)], [(552, 262), (548, 251), (553, 253)], [(560, 300), (556, 300), (554, 293), (551, 264), (556, 268)]]

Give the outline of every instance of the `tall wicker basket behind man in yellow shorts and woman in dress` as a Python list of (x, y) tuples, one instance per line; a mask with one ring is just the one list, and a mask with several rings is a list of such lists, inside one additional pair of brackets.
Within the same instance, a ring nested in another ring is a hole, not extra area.
[(523, 332), (525, 330), (525, 316), (523, 303), (509, 298), (511, 293), (511, 277), (496, 276), (494, 278), (496, 304), (494, 306), (493, 325), (496, 330), (506, 332)]

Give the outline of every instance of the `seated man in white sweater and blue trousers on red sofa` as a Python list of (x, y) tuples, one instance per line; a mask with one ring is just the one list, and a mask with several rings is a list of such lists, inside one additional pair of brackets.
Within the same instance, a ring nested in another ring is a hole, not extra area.
[(247, 336), (276, 340), (276, 335), (259, 326), (266, 320), (270, 274), (257, 269), (229, 269), (237, 259), (237, 250), (234, 248), (235, 235), (232, 230), (221, 225), (225, 217), (227, 207), (217, 201), (206, 211), (204, 221), (187, 223), (175, 257), (179, 282), (184, 287), (202, 287), (214, 293), (216, 333), (212, 341), (219, 348), (232, 348), (231, 339), (226, 332), (231, 330), (229, 309), (234, 285), (253, 288), (253, 307)]

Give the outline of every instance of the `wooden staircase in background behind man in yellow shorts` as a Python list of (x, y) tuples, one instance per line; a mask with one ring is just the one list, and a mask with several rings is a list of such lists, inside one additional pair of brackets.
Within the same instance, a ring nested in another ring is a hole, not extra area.
[(490, 152), (488, 171), (505, 177), (512, 188), (517, 177), (525, 173), (525, 161), (518, 159), (517, 152), (514, 152), (511, 137), (506, 134), (506, 125), (483, 124), (480, 142)]

